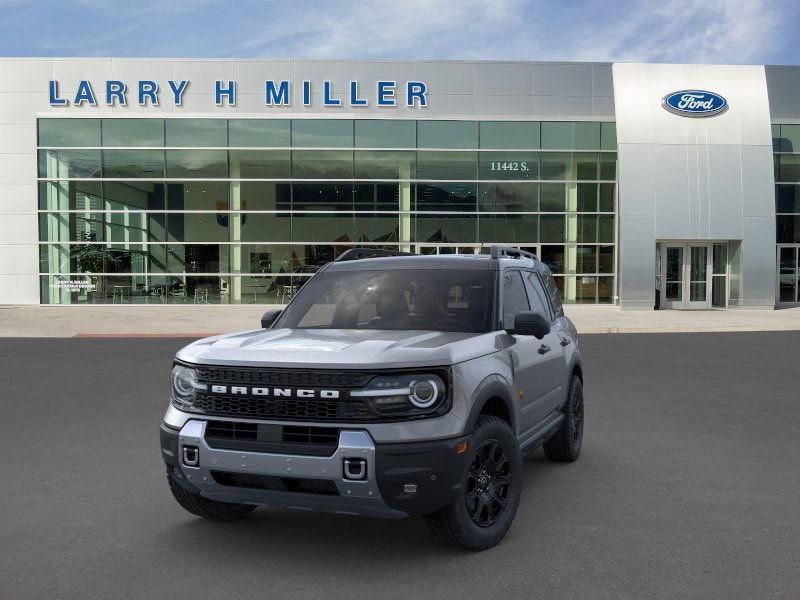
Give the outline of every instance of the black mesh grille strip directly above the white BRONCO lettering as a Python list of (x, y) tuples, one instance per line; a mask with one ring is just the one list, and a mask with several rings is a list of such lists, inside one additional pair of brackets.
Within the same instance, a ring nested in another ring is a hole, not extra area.
[(353, 389), (364, 387), (375, 375), (348, 371), (264, 370), (245, 367), (198, 367), (201, 381), (259, 386)]

